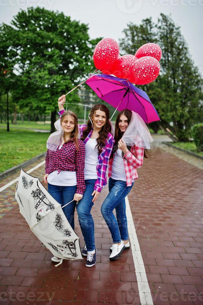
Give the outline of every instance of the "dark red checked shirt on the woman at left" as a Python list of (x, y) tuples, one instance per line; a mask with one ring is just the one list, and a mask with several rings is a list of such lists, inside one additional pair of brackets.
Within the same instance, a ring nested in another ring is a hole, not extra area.
[(45, 173), (53, 171), (76, 171), (77, 194), (83, 195), (85, 190), (84, 166), (85, 166), (85, 145), (78, 140), (79, 150), (73, 142), (69, 140), (64, 143), (61, 149), (56, 152), (48, 149), (45, 157)]

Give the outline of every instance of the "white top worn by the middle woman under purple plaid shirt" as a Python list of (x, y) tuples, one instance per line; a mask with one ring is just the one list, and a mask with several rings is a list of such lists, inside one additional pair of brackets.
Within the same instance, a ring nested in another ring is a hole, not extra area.
[(85, 143), (85, 180), (97, 179), (97, 164), (98, 164), (98, 150), (95, 148), (97, 145), (96, 139), (89, 139)]

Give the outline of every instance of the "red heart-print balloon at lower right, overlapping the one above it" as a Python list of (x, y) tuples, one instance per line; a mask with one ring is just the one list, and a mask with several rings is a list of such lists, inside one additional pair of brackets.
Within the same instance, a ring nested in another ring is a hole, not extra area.
[(144, 56), (136, 60), (131, 69), (134, 77), (132, 81), (137, 85), (146, 85), (153, 82), (159, 75), (160, 64), (157, 59), (151, 56)]

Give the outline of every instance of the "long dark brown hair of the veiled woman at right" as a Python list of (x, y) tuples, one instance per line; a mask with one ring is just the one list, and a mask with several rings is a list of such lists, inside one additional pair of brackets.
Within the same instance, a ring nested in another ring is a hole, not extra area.
[[(123, 132), (120, 131), (120, 128), (118, 127), (118, 124), (119, 124), (119, 120), (120, 120), (120, 117), (121, 115), (125, 115), (126, 118), (128, 119), (128, 124), (130, 123), (130, 120), (131, 120), (131, 117), (132, 117), (132, 111), (129, 110), (129, 109), (123, 109), (119, 112), (117, 118), (116, 118), (116, 125), (115, 125), (115, 135), (114, 135), (114, 138), (115, 138), (115, 145), (114, 145), (114, 148), (113, 148), (113, 151), (112, 151), (112, 154), (111, 154), (111, 158), (113, 157), (113, 153), (115, 153), (118, 149), (118, 141), (122, 138), (123, 136)], [(128, 150), (130, 150), (130, 146), (127, 146)], [(124, 153), (122, 152), (122, 156), (124, 155)], [(137, 156), (135, 156), (137, 157)], [(151, 154), (149, 153), (149, 150), (148, 149), (144, 149), (144, 158), (149, 158), (151, 157)]]

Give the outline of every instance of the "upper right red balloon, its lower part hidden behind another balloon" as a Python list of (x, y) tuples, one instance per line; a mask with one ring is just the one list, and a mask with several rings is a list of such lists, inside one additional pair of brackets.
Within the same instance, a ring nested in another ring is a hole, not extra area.
[(137, 58), (140, 58), (143, 56), (152, 56), (159, 61), (162, 56), (162, 50), (159, 45), (154, 44), (154, 43), (148, 43), (148, 44), (142, 45), (135, 53), (135, 56)]

